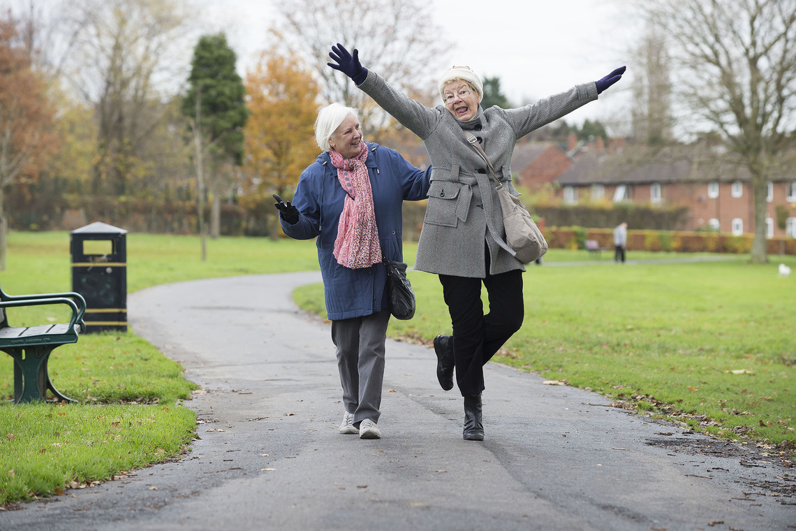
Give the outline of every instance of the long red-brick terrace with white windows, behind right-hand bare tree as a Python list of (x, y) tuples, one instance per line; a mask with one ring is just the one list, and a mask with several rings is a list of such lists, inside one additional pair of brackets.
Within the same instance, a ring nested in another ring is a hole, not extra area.
[[(745, 168), (710, 152), (629, 151), (611, 156), (587, 150), (556, 179), (556, 195), (564, 204), (602, 200), (684, 205), (690, 216), (677, 229), (754, 232), (751, 176)], [(787, 212), (784, 230), (777, 226), (778, 205)], [(766, 220), (769, 237), (796, 237), (796, 165), (783, 165), (772, 176)]]

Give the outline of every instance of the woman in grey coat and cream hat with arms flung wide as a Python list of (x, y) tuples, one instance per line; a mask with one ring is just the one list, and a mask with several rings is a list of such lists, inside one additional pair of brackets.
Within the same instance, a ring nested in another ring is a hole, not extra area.
[[(331, 68), (352, 78), (390, 115), (423, 140), (431, 157), (431, 187), (415, 269), (439, 275), (451, 314), (453, 335), (434, 338), (437, 378), (444, 390), (456, 383), (464, 397), (464, 431), (468, 440), (483, 440), (483, 365), (520, 329), (525, 314), (522, 272), (525, 267), (505, 243), (497, 191), (486, 162), (470, 146), (470, 132), (486, 151), (497, 177), (513, 195), (509, 166), (514, 145), (531, 131), (559, 119), (616, 83), (617, 68), (599, 81), (579, 84), (514, 109), (480, 105), (481, 79), (468, 67), (453, 67), (439, 80), (443, 105), (429, 108), (392, 88), (376, 72), (364, 68), (357, 49), (332, 47)], [(484, 314), (482, 284), (489, 294)]]

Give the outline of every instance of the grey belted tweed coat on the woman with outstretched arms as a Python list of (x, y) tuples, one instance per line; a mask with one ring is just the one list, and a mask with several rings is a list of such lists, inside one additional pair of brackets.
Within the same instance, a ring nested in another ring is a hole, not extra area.
[(467, 143), (462, 129), (479, 140), (505, 188), (519, 195), (510, 167), (517, 139), (596, 100), (596, 84), (580, 84), (516, 109), (478, 107), (466, 122), (459, 122), (443, 105), (429, 108), (417, 103), (372, 70), (359, 88), (418, 135), (431, 158), (431, 187), (415, 269), (483, 279), (488, 246), (490, 274), (525, 271), (505, 243), (500, 201), (486, 162)]

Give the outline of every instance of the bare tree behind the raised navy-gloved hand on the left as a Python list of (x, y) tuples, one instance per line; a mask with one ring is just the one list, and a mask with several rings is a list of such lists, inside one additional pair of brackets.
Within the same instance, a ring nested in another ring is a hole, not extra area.
[[(279, 4), (283, 20), (272, 33), (301, 53), (321, 80), (321, 96), (361, 109), (365, 132), (372, 134), (391, 119), (351, 80), (326, 66), (332, 45), (361, 50), (365, 68), (383, 75), (410, 96), (435, 93), (429, 80), (442, 71), (451, 45), (439, 36), (428, 2), (421, 0), (295, 0)], [(451, 66), (448, 64), (447, 66)]]

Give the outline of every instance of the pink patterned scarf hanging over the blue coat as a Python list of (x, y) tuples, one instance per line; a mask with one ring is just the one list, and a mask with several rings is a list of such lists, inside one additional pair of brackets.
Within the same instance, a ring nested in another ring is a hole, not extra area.
[(329, 154), (332, 166), (338, 169), (338, 181), (346, 193), (338, 237), (334, 240), (334, 258), (349, 269), (370, 267), (381, 261), (381, 245), (373, 210), (373, 190), (365, 166), (368, 145), (363, 142), (359, 154), (353, 158), (344, 159), (334, 150)]

